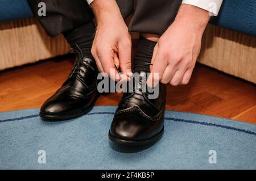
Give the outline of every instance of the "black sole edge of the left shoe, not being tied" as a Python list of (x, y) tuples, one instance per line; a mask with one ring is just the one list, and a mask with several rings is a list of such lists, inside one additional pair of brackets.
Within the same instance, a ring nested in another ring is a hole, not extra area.
[(86, 108), (85, 110), (79, 110), (78, 112), (72, 113), (72, 114), (67, 114), (67, 115), (47, 115), (44, 114), (42, 112), (39, 113), (39, 116), (44, 120), (44, 121), (65, 121), (65, 120), (69, 120), (69, 119), (74, 119), (76, 117), (80, 117), (82, 115), (85, 115), (86, 113), (88, 113), (90, 110), (92, 110), (92, 108), (94, 107), (94, 104), (96, 102), (96, 100), (98, 99), (99, 95), (96, 95), (96, 97), (94, 98), (92, 104), (90, 105), (90, 107)]

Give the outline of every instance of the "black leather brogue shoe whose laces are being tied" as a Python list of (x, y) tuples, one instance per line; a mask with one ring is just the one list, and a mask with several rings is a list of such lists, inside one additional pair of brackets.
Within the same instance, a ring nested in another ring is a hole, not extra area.
[[(109, 138), (123, 145), (147, 145), (158, 141), (164, 131), (166, 85), (159, 83), (159, 96), (149, 99), (148, 91), (142, 92), (145, 74), (141, 73), (137, 89), (123, 94), (112, 121)], [(139, 88), (139, 89), (138, 89)]]

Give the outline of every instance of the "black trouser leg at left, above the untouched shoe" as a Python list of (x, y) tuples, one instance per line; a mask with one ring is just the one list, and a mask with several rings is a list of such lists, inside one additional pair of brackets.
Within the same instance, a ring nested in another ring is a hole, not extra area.
[[(93, 13), (85, 0), (27, 0), (49, 36), (75, 30), (92, 21)], [(46, 4), (46, 16), (39, 16), (38, 3)]]

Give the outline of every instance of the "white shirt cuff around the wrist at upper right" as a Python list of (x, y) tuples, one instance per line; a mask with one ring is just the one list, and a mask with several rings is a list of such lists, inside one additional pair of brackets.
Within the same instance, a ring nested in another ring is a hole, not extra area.
[(210, 15), (217, 16), (223, 0), (183, 0), (183, 4), (193, 5), (210, 12)]

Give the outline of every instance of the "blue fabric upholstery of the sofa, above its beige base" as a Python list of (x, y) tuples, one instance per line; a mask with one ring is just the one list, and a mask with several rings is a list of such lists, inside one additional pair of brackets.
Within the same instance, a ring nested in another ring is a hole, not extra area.
[[(0, 0), (0, 22), (32, 16), (26, 0)], [(256, 36), (256, 1), (224, 0), (220, 14), (210, 23)]]

